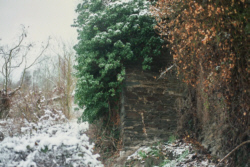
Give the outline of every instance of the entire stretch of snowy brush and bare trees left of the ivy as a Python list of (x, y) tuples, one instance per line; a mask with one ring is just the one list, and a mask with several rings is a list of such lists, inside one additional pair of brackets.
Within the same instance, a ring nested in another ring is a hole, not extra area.
[(41, 52), (36, 68), (34, 61), (28, 66), (34, 65), (33, 71), (25, 67), (16, 81), (10, 73), (28, 59), (22, 51), (29, 49), (25, 38), (26, 33), (11, 49), (0, 47), (0, 59), (5, 60), (0, 70), (0, 166), (102, 166), (85, 134), (88, 123), (78, 122), (83, 110), (72, 109), (72, 47), (50, 45), (56, 56)]

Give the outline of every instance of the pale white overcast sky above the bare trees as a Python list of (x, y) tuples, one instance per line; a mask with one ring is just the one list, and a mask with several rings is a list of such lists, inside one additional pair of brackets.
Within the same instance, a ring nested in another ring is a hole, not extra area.
[[(77, 32), (71, 25), (77, 17), (75, 9), (79, 2), (81, 0), (0, 0), (0, 46), (14, 46), (21, 35), (21, 25), (27, 30), (26, 43), (35, 44), (30, 59), (40, 53), (42, 42), (46, 43), (49, 36), (52, 47), (56, 45), (53, 39), (73, 46)], [(22, 70), (15, 71), (14, 79), (19, 78)]]

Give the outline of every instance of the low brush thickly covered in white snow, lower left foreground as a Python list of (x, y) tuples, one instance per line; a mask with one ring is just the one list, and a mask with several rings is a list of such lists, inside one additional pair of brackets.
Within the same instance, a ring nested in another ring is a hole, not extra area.
[(102, 167), (93, 154), (93, 144), (84, 134), (87, 123), (67, 120), (60, 112), (45, 111), (37, 123), (24, 122), (21, 132), (8, 136), (14, 121), (0, 122), (1, 167)]

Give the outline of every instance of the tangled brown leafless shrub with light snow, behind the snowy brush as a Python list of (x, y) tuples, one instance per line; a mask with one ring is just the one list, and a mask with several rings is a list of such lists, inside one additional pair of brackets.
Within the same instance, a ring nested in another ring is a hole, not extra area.
[(9, 117), (0, 121), (0, 128), (5, 136), (19, 136), (32, 133), (41, 122), (56, 124), (67, 121), (61, 107), (53, 100), (46, 100), (42, 92), (18, 91), (12, 98)]

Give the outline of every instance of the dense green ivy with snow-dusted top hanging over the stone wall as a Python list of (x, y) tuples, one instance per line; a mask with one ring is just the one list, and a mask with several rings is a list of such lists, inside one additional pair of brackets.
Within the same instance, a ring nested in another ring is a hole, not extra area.
[(119, 99), (126, 64), (142, 59), (142, 68), (150, 69), (152, 56), (159, 55), (162, 41), (149, 5), (143, 0), (83, 0), (78, 5), (75, 100), (86, 107), (84, 120), (108, 116)]

